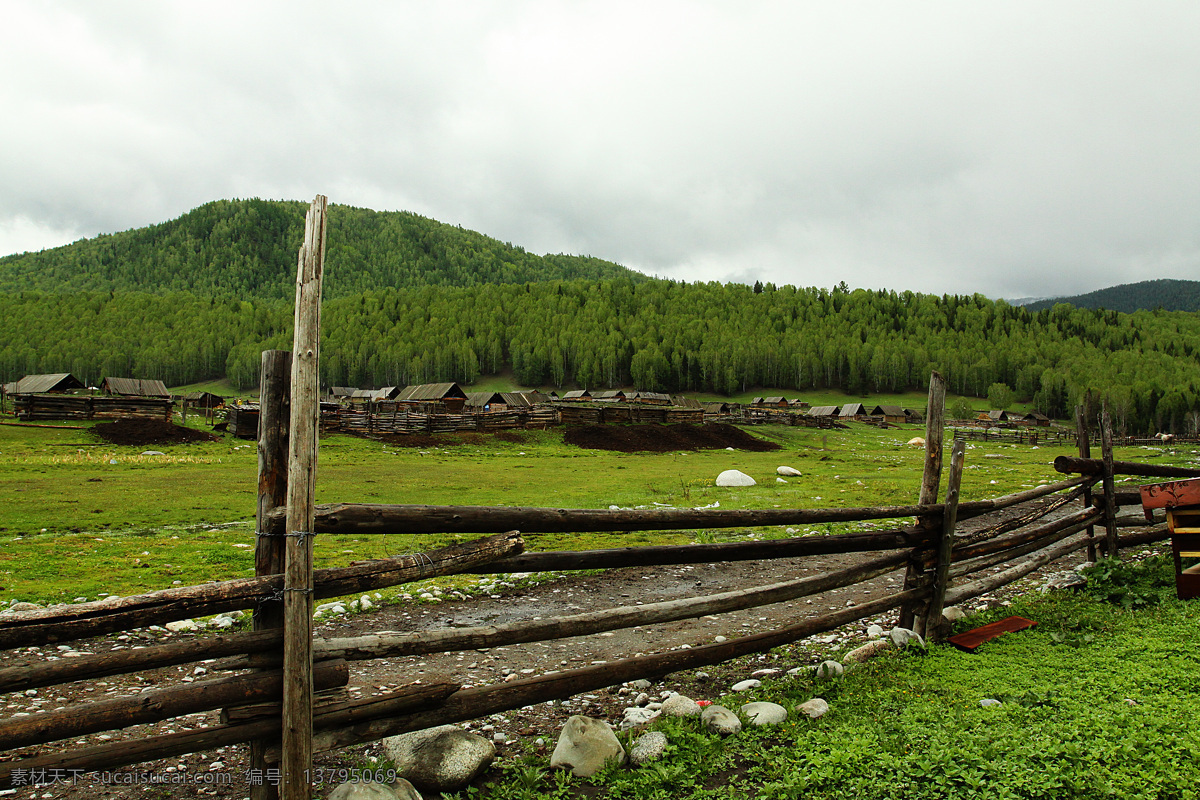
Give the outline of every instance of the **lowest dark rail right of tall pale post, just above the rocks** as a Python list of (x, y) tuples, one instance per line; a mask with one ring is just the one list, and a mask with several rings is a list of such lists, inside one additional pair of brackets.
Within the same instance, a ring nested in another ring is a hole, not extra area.
[(928, 593), (923, 589), (901, 591), (821, 616), (805, 619), (794, 625), (731, 639), (720, 644), (708, 644), (689, 650), (672, 650), (649, 656), (624, 658), (595, 667), (551, 673), (498, 686), (466, 688), (450, 696), (442, 706), (436, 709), (406, 716), (378, 717), (372, 722), (322, 732), (314, 738), (313, 750), (325, 751), (348, 747), (409, 730), (421, 730), (438, 724), (475, 720), (488, 714), (571, 697), (580, 692), (604, 688), (605, 686), (612, 686), (625, 680), (656, 678), (682, 669), (722, 663), (751, 652), (766, 652), (773, 648), (883, 613), (904, 602), (919, 600), (924, 594)]

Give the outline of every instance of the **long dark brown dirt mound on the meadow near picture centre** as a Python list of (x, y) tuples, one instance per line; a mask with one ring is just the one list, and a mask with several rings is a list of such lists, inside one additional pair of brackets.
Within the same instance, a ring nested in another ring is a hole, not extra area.
[(570, 427), (563, 440), (589, 450), (620, 452), (672, 452), (676, 450), (779, 450), (774, 441), (751, 437), (732, 425), (584, 425)]

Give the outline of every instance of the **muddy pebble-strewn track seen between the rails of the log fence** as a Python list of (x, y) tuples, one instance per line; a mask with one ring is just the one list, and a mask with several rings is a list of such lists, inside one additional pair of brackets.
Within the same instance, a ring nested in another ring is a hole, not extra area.
[[(318, 636), (347, 637), (379, 631), (413, 631), (437, 627), (462, 627), (499, 622), (569, 615), (600, 608), (636, 606), (661, 600), (691, 597), (715, 594), (731, 589), (762, 585), (779, 581), (816, 575), (847, 566), (862, 555), (834, 555), (804, 559), (780, 559), (775, 561), (742, 561), (701, 564), (668, 567), (630, 567), (611, 570), (602, 575), (568, 576), (545, 581), (536, 585), (522, 585), (520, 578), (499, 576), (482, 578), (472, 595), (464, 595), (442, 588), (436, 601), (404, 602), (388, 604), (368, 613), (347, 618), (337, 618), (319, 624)], [(1069, 569), (1082, 561), (1082, 553), (1063, 559), (1050, 567), (1026, 578), (1019, 584), (1006, 588), (994, 595), (988, 595), (973, 603), (984, 607), (990, 603), (1006, 602), (1022, 589), (1038, 585), (1040, 576)], [(1002, 566), (995, 569), (1003, 569)], [(463, 685), (481, 686), (530, 675), (540, 675), (552, 670), (565, 670), (584, 667), (599, 661), (614, 661), (634, 654), (662, 652), (683, 646), (696, 646), (712, 643), (715, 637), (730, 639), (748, 633), (761, 632), (774, 627), (793, 624), (799, 619), (821, 614), (832, 609), (841, 609), (847, 604), (863, 602), (872, 597), (894, 591), (902, 581), (902, 572), (860, 584), (853, 588), (839, 589), (810, 599), (776, 603), (763, 608), (749, 609), (706, 616), (697, 620), (685, 620), (646, 626), (640, 628), (612, 631), (606, 633), (574, 637), (569, 639), (497, 646), (486, 650), (450, 652), (420, 657), (385, 658), (371, 662), (354, 662), (350, 673), (352, 697), (368, 697), (386, 692), (414, 679), (445, 676)], [(779, 648), (766, 655), (754, 655), (738, 658), (715, 667), (704, 667), (667, 675), (655, 680), (650, 693), (662, 691), (680, 691), (696, 699), (716, 698), (728, 691), (733, 682), (750, 676), (750, 673), (764, 667), (786, 670), (802, 664), (814, 664), (827, 655), (842, 651), (865, 640), (865, 628), (871, 622), (890, 627), (895, 622), (895, 612), (889, 612), (876, 619), (866, 619), (847, 625), (826, 636), (812, 637), (796, 645)], [(203, 636), (203, 633), (168, 633), (162, 630), (139, 630), (122, 636), (109, 636), (74, 643), (71, 645), (47, 645), (28, 648), (17, 654), (6, 652), (0, 666), (11, 666), (20, 660), (44, 661), (47, 658), (71, 657), (68, 652), (104, 652), (127, 646), (143, 646), (163, 640), (179, 640)], [(199, 667), (206, 673), (206, 667)], [(103, 680), (78, 682), (66, 686), (12, 693), (0, 697), (6, 716), (34, 714), (37, 711), (70, 708), (72, 704), (101, 699), (104, 697), (134, 696), (145, 688), (178, 685), (180, 681), (204, 680), (214, 674), (198, 674), (197, 664), (163, 668), (142, 673), (138, 678), (110, 676)], [(626, 690), (628, 691), (628, 690)], [(498, 745), (500, 757), (512, 757), (521, 753), (538, 752), (548, 757), (553, 748), (558, 730), (568, 716), (586, 714), (619, 723), (623, 709), (630, 704), (620, 687), (587, 692), (569, 700), (552, 704), (538, 704), (527, 709), (510, 711), (503, 715), (475, 721), (469, 727), (473, 730), (493, 736), (504, 734), (506, 741)], [(131, 739), (146, 735), (173, 733), (194, 729), (217, 722), (216, 712), (196, 714), (174, 722), (137, 726), (112, 734), (90, 734), (78, 736), (67, 742), (67, 747), (96, 745), (113, 739)], [(49, 747), (29, 747), (8, 752), (4, 758), (32, 756)], [(361, 745), (334, 754), (318, 754), (316, 766), (319, 769), (364, 768), (371, 758), (379, 757), (378, 745)], [(114, 769), (115, 776), (140, 774), (157, 776), (156, 780), (198, 781), (193, 784), (172, 783), (167, 787), (156, 786), (119, 786), (96, 784), (89, 778), (77, 783), (56, 783), (40, 787), (36, 792), (25, 788), (17, 796), (22, 798), (245, 798), (248, 796), (247, 753), (245, 746), (222, 747), (208, 753), (181, 756), (137, 766)], [(205, 781), (223, 781), (206, 783)], [(324, 796), (332, 786), (320, 789)]]

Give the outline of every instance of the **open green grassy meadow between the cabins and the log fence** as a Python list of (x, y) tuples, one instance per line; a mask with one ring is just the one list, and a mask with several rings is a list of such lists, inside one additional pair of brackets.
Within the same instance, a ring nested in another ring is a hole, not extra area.
[[(193, 420), (194, 427), (204, 427)], [(563, 443), (562, 431), (445, 437), (443, 446), (396, 447), (349, 435), (322, 439), (317, 501), (529, 505), (604, 509), (845, 507), (916, 500), (919, 426), (882, 431), (863, 425), (817, 431), (761, 426), (754, 435), (780, 444), (767, 453), (726, 450), (619, 453)], [(962, 497), (984, 498), (1058, 480), (1060, 450), (968, 445)], [(1132, 449), (1118, 458), (1186, 461)], [(162, 455), (144, 455), (160, 451)], [(802, 477), (775, 481), (775, 468)], [(758, 485), (718, 488), (725, 469)], [(114, 446), (88, 426), (0, 426), (0, 602), (61, 602), (127, 595), (251, 575), (257, 452), (221, 435), (188, 445)], [(838, 530), (838, 528), (834, 528)], [(544, 534), (529, 549), (617, 547), (784, 536), (758, 531)], [(418, 552), (452, 536), (322, 536), (318, 566)]]

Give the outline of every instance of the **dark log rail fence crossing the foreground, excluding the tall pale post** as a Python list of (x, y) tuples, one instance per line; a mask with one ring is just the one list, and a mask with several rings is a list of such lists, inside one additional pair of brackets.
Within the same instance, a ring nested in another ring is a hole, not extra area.
[[(269, 431), (264, 433), (270, 438)], [(956, 444), (950, 462), (952, 486), (962, 467), (961, 443)], [(433, 724), (460, 722), (532, 703), (566, 698), (624, 680), (714, 664), (769, 650), (888, 609), (911, 609), (917, 627), (928, 627), (926, 633), (936, 634), (934, 626), (925, 624), (923, 619), (925, 612), (934, 607), (940, 609), (942, 604), (992, 591), (1080, 548), (1111, 548), (1115, 552), (1117, 547), (1165, 536), (1165, 529), (1159, 525), (1148, 534), (1116, 537), (1117, 517), (1105, 512), (1105, 503), (1111, 500), (1116, 509), (1140, 500), (1135, 493), (1118, 494), (1110, 489), (1102, 498), (1103, 501), (1081, 506), (1082, 492), (1092, 483), (1105, 480), (1111, 474), (1196, 475), (1193, 470), (1166, 470), (1124, 462), (1112, 463), (1112, 471), (1105, 473), (1103, 461), (1084, 458), (1060, 459), (1056, 467), (1061, 471), (1078, 475), (1060, 483), (991, 500), (960, 500), (955, 492), (955, 497), (948, 497), (946, 503), (912, 506), (758, 511), (608, 511), (355, 504), (317, 507), (310, 539), (312, 535), (350, 533), (492, 535), (468, 545), (419, 555), (366, 561), (336, 570), (314, 570), (312, 597), (316, 599), (344, 596), (419, 578), (463, 572), (595, 570), (631, 565), (803, 558), (830, 553), (862, 553), (864, 558), (854, 566), (835, 572), (720, 595), (481, 628), (314, 638), (311, 642), (312, 687), (316, 692), (312, 748), (324, 751), (346, 747)], [(926, 479), (930, 477), (928, 473)], [(1069, 510), (1070, 506), (1074, 510)], [(1003, 510), (1008, 511), (1000, 516), (998, 512)], [(259, 528), (260, 545), (276, 545), (286, 540), (286, 509), (266, 511)], [(974, 533), (970, 536), (955, 536), (955, 524), (973, 518), (980, 518), (973, 525)], [(889, 530), (838, 536), (590, 552), (522, 553), (523, 542), (516, 533), (719, 529), (880, 519), (894, 519), (896, 523)], [(1110, 521), (1112, 525), (1109, 525)], [(1093, 525), (1103, 525), (1104, 534), (1091, 534)], [(1110, 528), (1114, 531), (1111, 535)], [(1003, 572), (978, 577), (980, 571), (1014, 559), (1021, 560)], [(720, 644), (623, 658), (494, 686), (462, 688), (444, 681), (414, 682), (380, 697), (359, 700), (347, 699), (344, 692), (337, 692), (349, 680), (350, 664), (359, 661), (541, 642), (635, 625), (692, 619), (806, 597), (900, 569), (910, 571), (910, 581), (894, 594)], [(233, 609), (250, 609), (263, 614), (278, 607), (283, 588), (283, 576), (275, 573), (14, 614), (0, 620), (0, 646), (11, 649), (71, 642)], [(224, 710), (220, 724), (200, 730), (133, 736), (90, 746), (64, 742), (66, 746), (59, 750), (5, 762), (0, 764), (0, 786), (20, 786), (28, 783), (30, 776), (37, 775), (113, 770), (121, 765), (238, 742), (258, 742), (263, 763), (277, 762), (282, 754), (278, 745), (282, 640), (281, 628), (268, 627), (247, 633), (202, 637), (138, 650), (0, 669), (0, 691), (4, 692), (95, 680), (210, 658), (223, 658), (223, 662), (216, 664), (221, 669), (215, 672), (228, 673), (211, 680), (158, 687), (132, 698), (97, 700), (0, 722), (0, 747), (13, 751), (186, 714)], [(253, 672), (236, 674), (238, 670), (250, 668)]]

